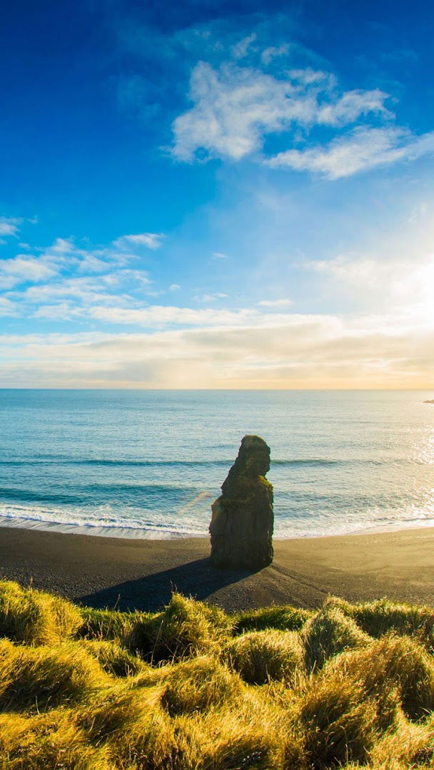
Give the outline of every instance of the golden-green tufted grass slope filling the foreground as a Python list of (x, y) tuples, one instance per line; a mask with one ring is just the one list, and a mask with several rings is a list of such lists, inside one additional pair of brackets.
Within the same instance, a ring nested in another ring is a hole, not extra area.
[(434, 610), (78, 608), (0, 583), (0, 770), (432, 768)]

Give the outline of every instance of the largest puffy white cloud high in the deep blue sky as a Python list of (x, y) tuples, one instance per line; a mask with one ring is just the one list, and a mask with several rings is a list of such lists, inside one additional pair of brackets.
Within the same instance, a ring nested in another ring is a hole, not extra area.
[(260, 150), (264, 137), (302, 126), (345, 126), (370, 112), (390, 117), (387, 94), (355, 90), (337, 95), (325, 73), (296, 71), (277, 79), (256, 69), (199, 62), (190, 79), (193, 108), (173, 122), (173, 156), (240, 160)]

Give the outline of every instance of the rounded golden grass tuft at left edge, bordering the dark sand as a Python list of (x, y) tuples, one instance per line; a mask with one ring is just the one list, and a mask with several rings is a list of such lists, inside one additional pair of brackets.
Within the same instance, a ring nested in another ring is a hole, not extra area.
[(0, 581), (0, 636), (25, 644), (56, 644), (81, 623), (78, 609), (69, 601)]

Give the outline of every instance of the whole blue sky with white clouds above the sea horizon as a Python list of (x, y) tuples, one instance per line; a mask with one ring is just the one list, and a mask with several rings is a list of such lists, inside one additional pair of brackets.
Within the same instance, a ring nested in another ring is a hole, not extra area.
[(434, 8), (2, 8), (0, 387), (434, 387)]

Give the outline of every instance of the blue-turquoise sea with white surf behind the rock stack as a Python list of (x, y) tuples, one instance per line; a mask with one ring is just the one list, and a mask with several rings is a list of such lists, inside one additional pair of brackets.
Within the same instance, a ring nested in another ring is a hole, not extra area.
[(271, 446), (277, 537), (434, 525), (432, 397), (0, 390), (0, 523), (207, 534), (241, 437), (255, 433)]

